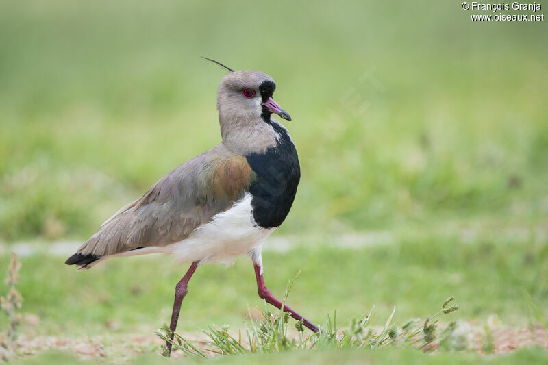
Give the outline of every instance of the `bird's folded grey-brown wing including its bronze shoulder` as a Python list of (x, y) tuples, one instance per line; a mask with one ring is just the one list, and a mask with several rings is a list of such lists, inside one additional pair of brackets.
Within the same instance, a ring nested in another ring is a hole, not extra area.
[[(97, 260), (141, 247), (164, 247), (187, 238), (249, 190), (251, 168), (242, 155), (222, 144), (198, 155), (162, 177), (140, 199), (109, 218), (77, 253)], [(84, 266), (85, 266), (84, 262)]]

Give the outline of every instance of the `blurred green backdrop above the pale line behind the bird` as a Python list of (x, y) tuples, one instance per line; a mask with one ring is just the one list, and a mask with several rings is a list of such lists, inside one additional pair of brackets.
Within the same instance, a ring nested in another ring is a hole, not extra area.
[(277, 81), (303, 168), (280, 231), (536, 221), (547, 35), (447, 3), (6, 2), (0, 237), (82, 240), (217, 144), (201, 55)]

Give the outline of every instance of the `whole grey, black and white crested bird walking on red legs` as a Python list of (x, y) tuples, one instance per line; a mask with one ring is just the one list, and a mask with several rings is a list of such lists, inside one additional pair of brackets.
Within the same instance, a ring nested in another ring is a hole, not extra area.
[[(140, 199), (108, 218), (65, 264), (86, 270), (110, 257), (166, 253), (190, 268), (175, 286), (171, 340), (188, 282), (199, 266), (230, 264), (247, 255), (259, 297), (282, 309), (266, 287), (262, 246), (288, 215), (301, 178), (297, 149), (286, 127), (291, 121), (273, 99), (275, 81), (262, 71), (228, 73), (217, 88), (221, 143), (177, 166)], [(284, 305), (284, 312), (320, 329)], [(166, 342), (167, 356), (171, 342)]]

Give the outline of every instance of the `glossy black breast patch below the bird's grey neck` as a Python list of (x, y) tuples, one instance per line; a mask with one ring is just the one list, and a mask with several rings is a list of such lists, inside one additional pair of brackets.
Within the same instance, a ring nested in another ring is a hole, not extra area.
[(297, 186), (301, 179), (301, 168), (295, 145), (287, 131), (277, 123), (269, 123), (280, 135), (276, 147), (264, 154), (246, 156), (256, 179), (251, 184), (251, 207), (253, 218), (263, 228), (279, 227), (293, 205)]

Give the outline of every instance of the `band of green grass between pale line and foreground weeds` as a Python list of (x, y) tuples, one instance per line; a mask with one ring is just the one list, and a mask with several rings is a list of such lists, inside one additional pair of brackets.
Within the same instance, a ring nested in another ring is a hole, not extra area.
[[(379, 318), (387, 318), (396, 306), (394, 319), (401, 323), (425, 318), (440, 300), (455, 295), (462, 306), (460, 320), (484, 323), (497, 314), (503, 323), (525, 326), (529, 304), (524, 291), (548, 317), (548, 251), (543, 244), (512, 237), (466, 242), (459, 237), (413, 240), (406, 235), (397, 236), (393, 244), (359, 249), (327, 244), (336, 242), (264, 253), (266, 284), (279, 297), (301, 270), (288, 303), (317, 323), (336, 310), (339, 323), (347, 324), (373, 305)], [(8, 260), (1, 257), (0, 267)], [(175, 284), (186, 270), (162, 256), (112, 259), (83, 273), (62, 265), (62, 260), (22, 258), (18, 289), (25, 312), (42, 319), (38, 329), (30, 329), (37, 333), (152, 333), (169, 320)], [(190, 281), (179, 330), (193, 333), (212, 323), (237, 327), (247, 305), (261, 302), (248, 259), (237, 260), (229, 269), (203, 266)], [(108, 322), (119, 328), (108, 328)]]

